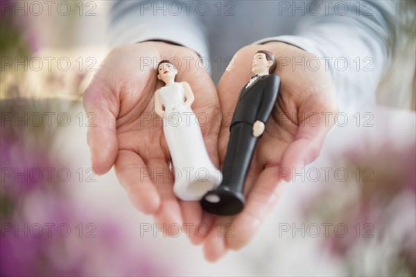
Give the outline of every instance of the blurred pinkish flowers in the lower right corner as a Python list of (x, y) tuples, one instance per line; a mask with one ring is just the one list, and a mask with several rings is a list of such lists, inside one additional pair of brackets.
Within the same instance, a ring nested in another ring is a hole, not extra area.
[[(386, 274), (416, 274), (416, 145), (399, 149), (392, 145), (387, 141), (379, 151), (346, 152), (345, 161), (335, 166), (355, 174), (342, 184), (322, 186), (318, 196), (302, 206), (307, 220), (341, 222), (349, 228), (345, 236), (331, 232), (322, 246), (344, 260), (352, 275), (361, 274), (354, 263), (360, 260), (357, 256), (366, 258), (369, 254), (363, 251), (377, 244), (388, 247), (385, 255), (391, 256), (383, 266)], [(385, 257), (378, 251), (369, 253)]]

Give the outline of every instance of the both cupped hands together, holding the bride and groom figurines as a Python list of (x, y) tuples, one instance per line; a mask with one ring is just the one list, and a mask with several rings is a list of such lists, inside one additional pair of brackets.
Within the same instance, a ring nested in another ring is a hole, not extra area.
[[(300, 169), (317, 157), (333, 124), (326, 125), (327, 120), (322, 117), (318, 125), (305, 122), (315, 114), (335, 113), (331, 82), (322, 70), (292, 71), (288, 67), (291, 64), (281, 69), (277, 66), (275, 73), (281, 77), (281, 89), (254, 154), (245, 185), (245, 209), (236, 217), (215, 218), (202, 213), (198, 202), (181, 202), (173, 195), (171, 157), (162, 120), (154, 111), (153, 96), (162, 83), (157, 82), (155, 64), (148, 62), (155, 57), (158, 61), (173, 58), (174, 63), (175, 60), (182, 62), (184, 67), (178, 68), (176, 81), (189, 82), (196, 99), (193, 111), (209, 120), (201, 129), (209, 155), (218, 166), (218, 154), (220, 161), (224, 161), (229, 122), (240, 89), (252, 75), (252, 55), (260, 49), (271, 51), (276, 57), (311, 56), (280, 43), (246, 46), (234, 56), (232, 71), (224, 73), (217, 95), (209, 75), (196, 68), (194, 61), (198, 57), (193, 51), (162, 42), (133, 44), (112, 51), (85, 91), (85, 109), (97, 115), (96, 127), (89, 127), (87, 138), (96, 172), (103, 174), (115, 164), (117, 177), (128, 190), (133, 204), (140, 211), (153, 214), (160, 226), (180, 222), (191, 225), (193, 242), (202, 242), (195, 227), (200, 222), (211, 223), (215, 228), (210, 229), (205, 240), (205, 254), (209, 260), (216, 260), (227, 249), (239, 249), (250, 241), (277, 202), (279, 188), (283, 187), (277, 184), (281, 178), (290, 179), (290, 175), (279, 174), (282, 168), (288, 168), (289, 172), (293, 168)], [(193, 57), (190, 64), (186, 62), (189, 57)], [(222, 120), (220, 114), (223, 114)], [(231, 222), (231, 230), (218, 229), (218, 224), (224, 228)]]

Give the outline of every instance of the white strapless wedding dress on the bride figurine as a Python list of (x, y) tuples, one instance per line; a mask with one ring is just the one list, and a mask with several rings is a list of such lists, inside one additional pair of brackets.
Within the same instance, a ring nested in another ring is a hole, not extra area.
[(220, 184), (221, 172), (209, 159), (196, 115), (184, 107), (183, 84), (162, 87), (159, 97), (166, 112), (163, 130), (173, 162), (173, 192), (184, 201), (199, 200)]

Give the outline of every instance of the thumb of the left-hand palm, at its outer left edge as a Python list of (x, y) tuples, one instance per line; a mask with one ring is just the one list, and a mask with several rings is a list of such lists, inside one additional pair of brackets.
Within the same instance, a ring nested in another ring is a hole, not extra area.
[(87, 142), (92, 167), (98, 175), (104, 174), (117, 157), (116, 117), (119, 101), (105, 85), (93, 80), (84, 93), (83, 104), (87, 117)]

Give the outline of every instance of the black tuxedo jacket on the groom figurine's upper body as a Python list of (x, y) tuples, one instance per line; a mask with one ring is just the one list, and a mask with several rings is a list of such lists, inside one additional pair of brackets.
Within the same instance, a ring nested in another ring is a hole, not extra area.
[(257, 120), (266, 124), (275, 107), (280, 78), (275, 74), (263, 75), (247, 89), (246, 86), (241, 90), (230, 127), (239, 122), (254, 124)]

